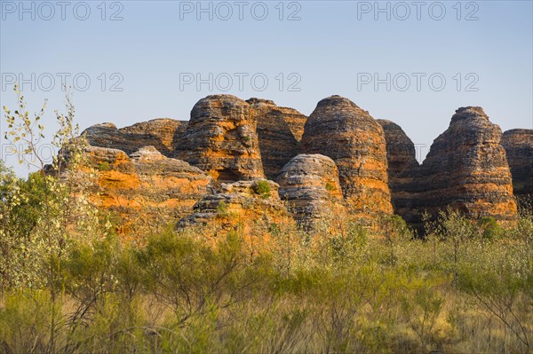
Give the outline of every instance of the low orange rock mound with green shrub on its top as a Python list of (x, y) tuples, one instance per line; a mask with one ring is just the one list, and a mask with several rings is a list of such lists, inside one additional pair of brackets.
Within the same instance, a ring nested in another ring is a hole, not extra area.
[(183, 217), (177, 229), (211, 224), (221, 230), (233, 230), (237, 224), (250, 230), (257, 220), (274, 223), (289, 214), (280, 200), (279, 185), (266, 179), (221, 183), (216, 191), (207, 194), (194, 206), (194, 212)]

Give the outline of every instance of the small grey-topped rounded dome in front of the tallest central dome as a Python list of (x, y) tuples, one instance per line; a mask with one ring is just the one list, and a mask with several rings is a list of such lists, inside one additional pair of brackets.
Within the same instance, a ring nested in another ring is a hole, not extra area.
[(321, 154), (299, 154), (287, 163), (277, 178), (282, 201), (297, 223), (306, 230), (334, 212), (342, 204), (335, 162)]

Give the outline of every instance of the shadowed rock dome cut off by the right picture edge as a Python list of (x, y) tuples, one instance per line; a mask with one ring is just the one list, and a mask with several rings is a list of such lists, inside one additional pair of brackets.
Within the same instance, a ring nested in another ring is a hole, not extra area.
[(507, 130), (502, 139), (517, 196), (533, 196), (533, 130)]

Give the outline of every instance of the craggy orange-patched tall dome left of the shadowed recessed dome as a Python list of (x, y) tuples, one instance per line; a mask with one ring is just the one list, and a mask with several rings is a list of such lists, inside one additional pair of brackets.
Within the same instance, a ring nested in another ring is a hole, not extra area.
[(242, 99), (202, 98), (191, 111), (175, 155), (219, 181), (264, 177), (256, 126), (253, 109)]

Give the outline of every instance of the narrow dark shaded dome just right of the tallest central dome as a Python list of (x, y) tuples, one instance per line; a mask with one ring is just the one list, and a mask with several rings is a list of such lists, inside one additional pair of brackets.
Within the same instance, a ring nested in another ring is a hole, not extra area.
[(406, 220), (413, 215), (413, 184), (418, 183), (418, 161), (415, 145), (398, 124), (378, 119), (386, 139), (386, 158), (388, 165), (388, 185), (394, 213)]

